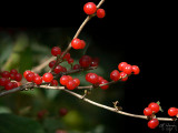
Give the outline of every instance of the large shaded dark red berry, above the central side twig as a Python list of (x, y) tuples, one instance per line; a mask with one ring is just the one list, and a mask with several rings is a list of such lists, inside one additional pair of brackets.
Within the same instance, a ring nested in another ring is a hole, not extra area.
[(82, 55), (79, 63), (82, 68), (88, 68), (91, 64), (91, 58), (89, 55)]

